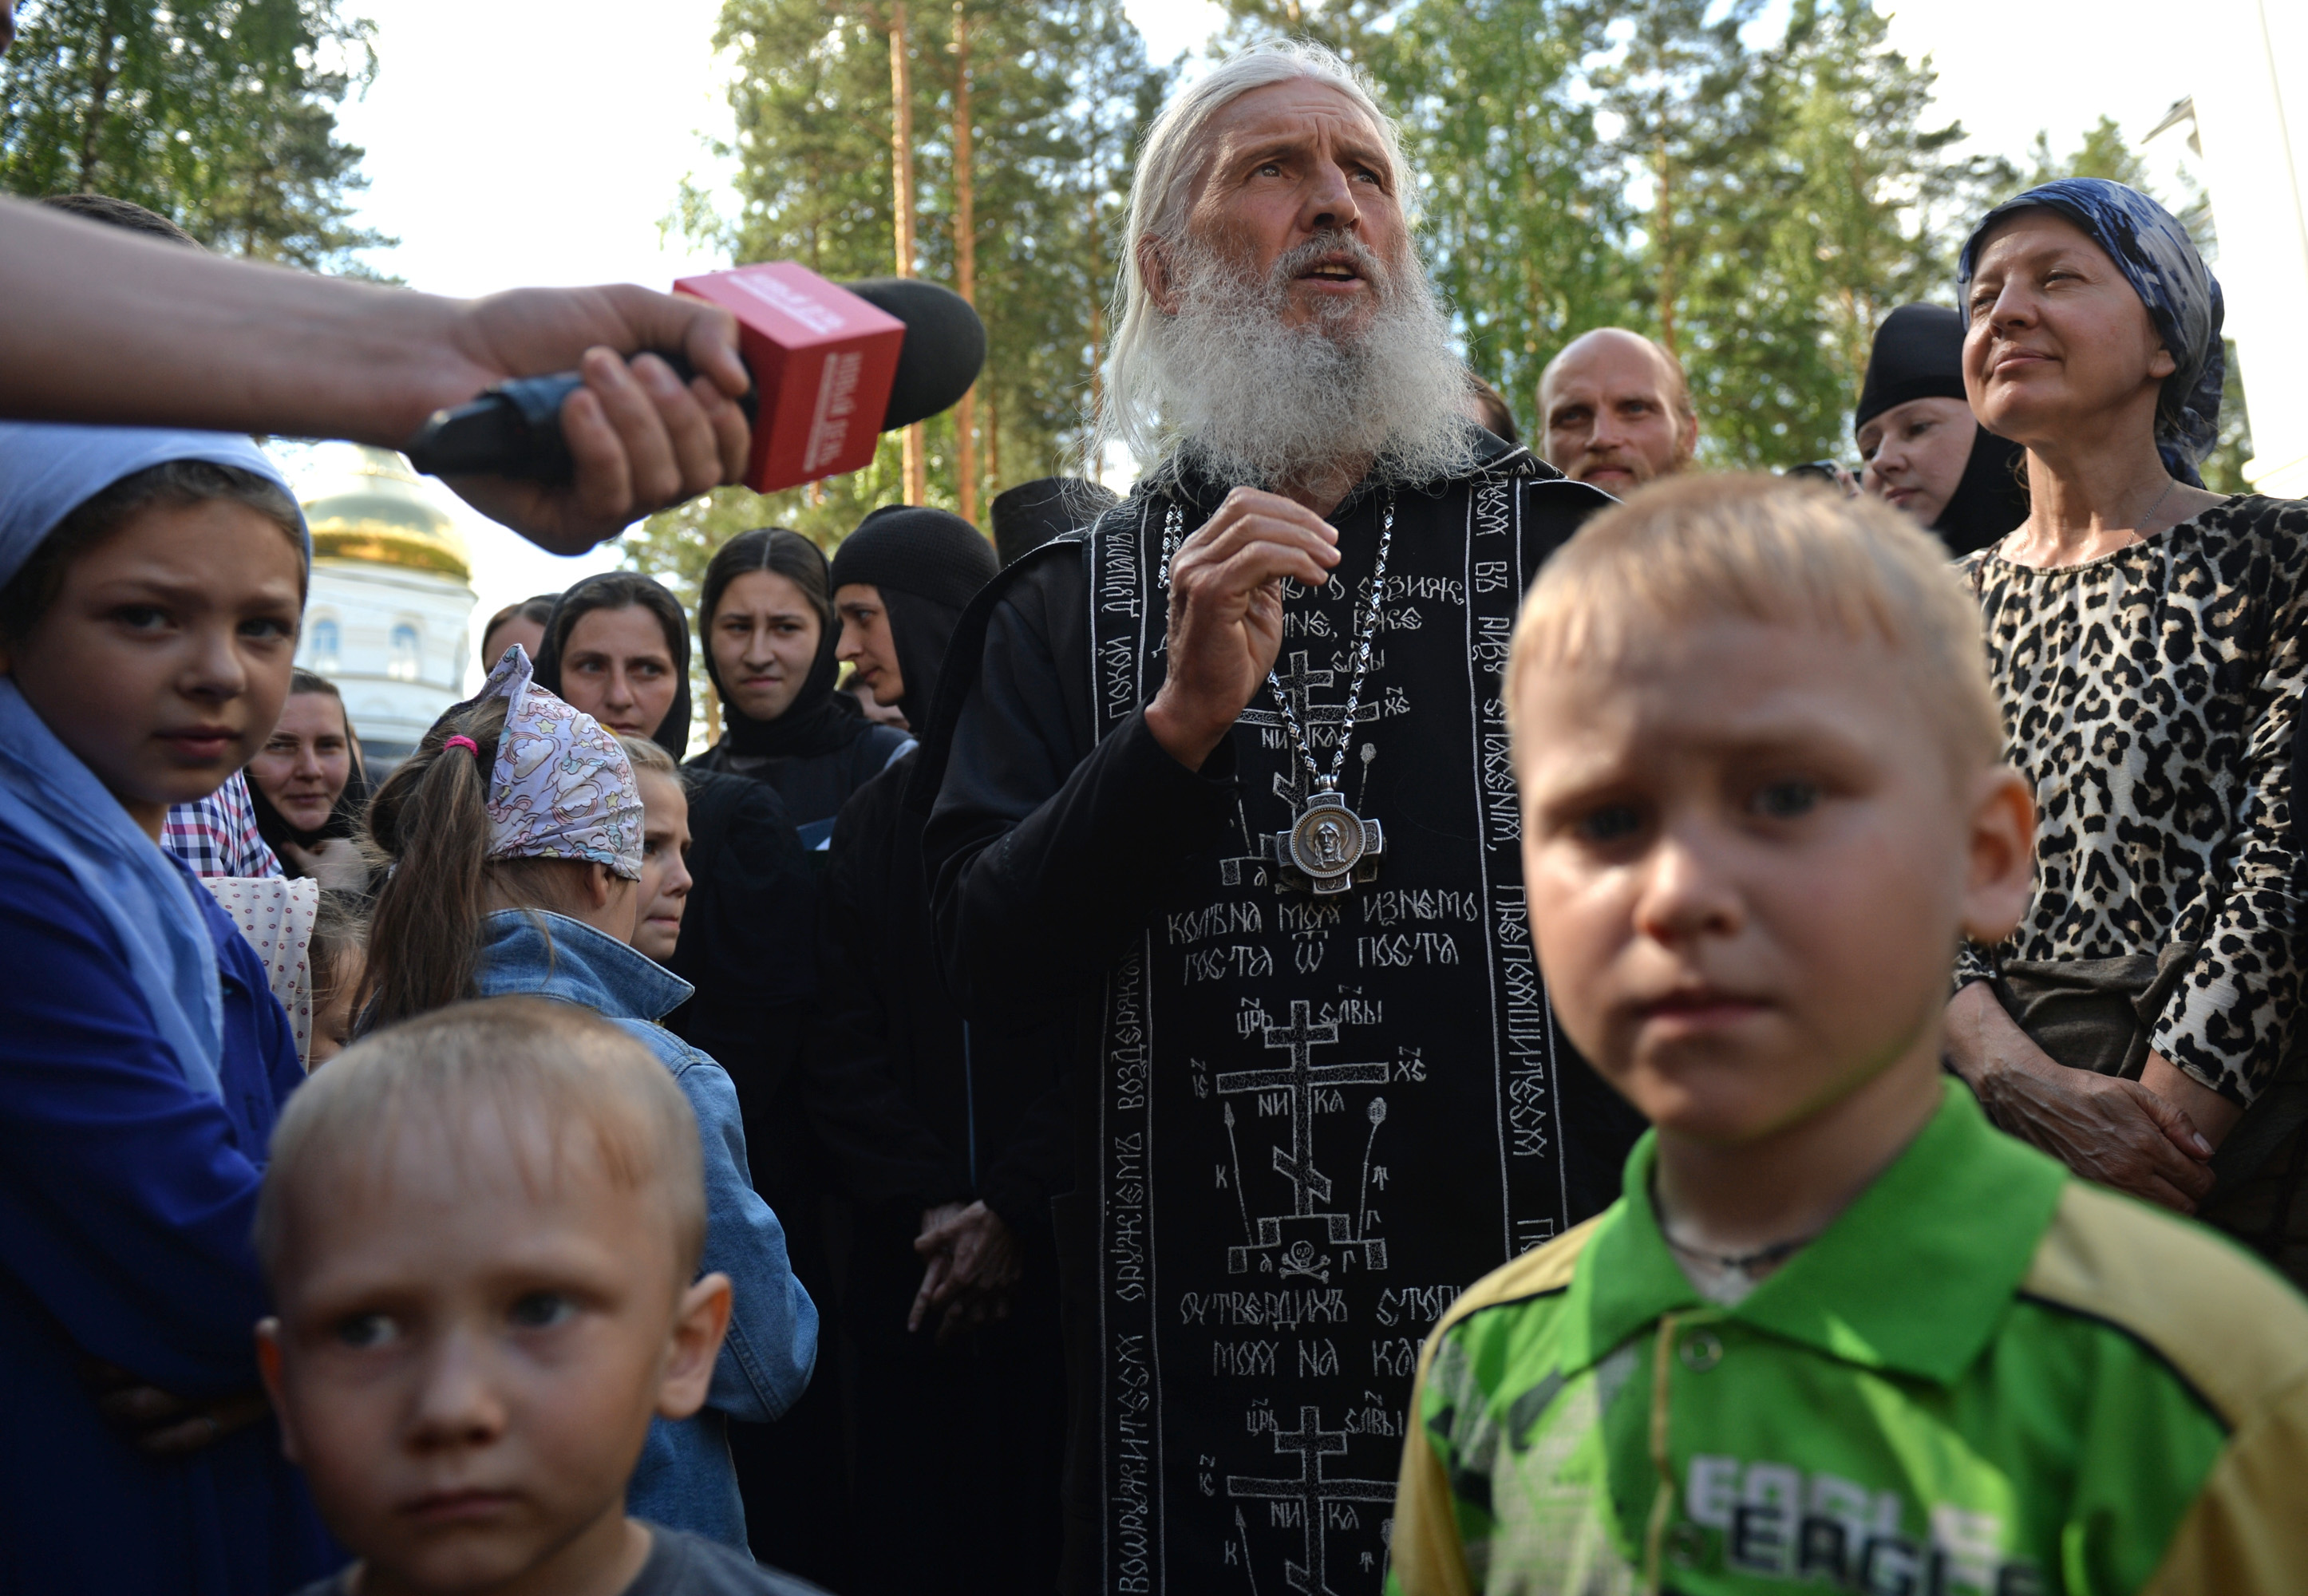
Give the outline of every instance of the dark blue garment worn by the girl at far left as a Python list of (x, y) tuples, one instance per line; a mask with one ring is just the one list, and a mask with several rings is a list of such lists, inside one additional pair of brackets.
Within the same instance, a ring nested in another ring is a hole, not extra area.
[(118, 1439), (83, 1356), (180, 1395), (256, 1386), (249, 1245), (305, 1079), (263, 964), (208, 893), (222, 1100), (185, 1084), (127, 950), (0, 828), (0, 1591), (275, 1596), (339, 1564), (263, 1421), (180, 1458)]

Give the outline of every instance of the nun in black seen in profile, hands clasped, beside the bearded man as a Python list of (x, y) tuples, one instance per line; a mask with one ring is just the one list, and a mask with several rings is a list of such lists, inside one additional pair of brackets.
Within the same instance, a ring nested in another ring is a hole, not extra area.
[[(840, 653), (926, 724), (946, 643), (995, 577), (944, 510), (877, 510), (833, 556)], [(896, 680), (893, 680), (896, 678)], [(1050, 1197), (1069, 1183), (1062, 1038), (965, 1024), (937, 978), (909, 752), (842, 807), (819, 909), (803, 1102), (854, 1206), (842, 1331), (859, 1501), (914, 1504), (861, 1538), (859, 1591), (1057, 1582), (1064, 1386)]]

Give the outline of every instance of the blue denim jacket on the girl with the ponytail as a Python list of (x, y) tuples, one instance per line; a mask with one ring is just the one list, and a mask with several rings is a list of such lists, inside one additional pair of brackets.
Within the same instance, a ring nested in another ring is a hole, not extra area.
[(736, 1305), (706, 1407), (695, 1418), (649, 1425), (625, 1508), (745, 1550), (745, 1504), (729, 1462), (727, 1421), (766, 1423), (794, 1405), (817, 1363), (817, 1305), (794, 1280), (785, 1229), (745, 1172), (736, 1086), (718, 1063), (658, 1024), (690, 996), (690, 983), (582, 920), (501, 909), (482, 920), (475, 985), (482, 996), (549, 996), (614, 1019), (665, 1061), (697, 1112), (706, 1160), (699, 1271), (729, 1275)]

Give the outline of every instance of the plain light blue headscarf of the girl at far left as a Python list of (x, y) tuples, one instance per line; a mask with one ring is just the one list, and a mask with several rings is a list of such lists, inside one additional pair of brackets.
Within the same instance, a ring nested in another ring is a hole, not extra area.
[[(81, 503), (171, 459), (240, 466), (288, 491), (279, 466), (233, 434), (0, 422), (0, 586)], [(295, 503), (293, 491), (288, 500)], [(309, 535), (305, 560), (309, 567)], [(0, 676), (0, 828), (72, 874), (127, 950), (129, 973), (185, 1082), (217, 1096), (224, 1001), (201, 888), (48, 731), (12, 676)], [(23, 980), (25, 971), (9, 978)]]

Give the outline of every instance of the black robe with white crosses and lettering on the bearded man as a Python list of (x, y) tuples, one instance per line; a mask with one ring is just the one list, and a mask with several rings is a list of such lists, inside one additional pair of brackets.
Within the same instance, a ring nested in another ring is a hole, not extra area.
[[(1260, 687), (1200, 770), (1154, 743), (1166, 521), (1142, 484), (981, 595), (916, 803), (949, 983), (1073, 1003), (1069, 1578), (1103, 1591), (1376, 1591), (1419, 1340), (1599, 1211), (1639, 1130), (1556, 1036), (1523, 918), (1503, 671), (1539, 563), (1597, 507), (1528, 450), (1332, 514), (1276, 671), (1329, 770), (1352, 625), (1378, 634), (1346, 800), (1373, 881), (1288, 890), (1306, 773)], [(1380, 517), (1396, 507), (1385, 586)]]

